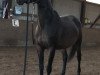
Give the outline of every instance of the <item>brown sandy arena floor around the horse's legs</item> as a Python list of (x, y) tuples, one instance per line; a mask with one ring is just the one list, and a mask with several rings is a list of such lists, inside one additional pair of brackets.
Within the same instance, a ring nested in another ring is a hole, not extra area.
[[(45, 51), (45, 68), (49, 52)], [(0, 47), (0, 75), (22, 75), (24, 48)], [(60, 75), (62, 68), (62, 55), (56, 52), (51, 75)], [(100, 75), (100, 48), (82, 49), (82, 74)], [(46, 70), (44, 71), (46, 75)], [(75, 58), (67, 64), (66, 75), (77, 75), (77, 60)], [(26, 75), (39, 75), (36, 49), (28, 49)]]

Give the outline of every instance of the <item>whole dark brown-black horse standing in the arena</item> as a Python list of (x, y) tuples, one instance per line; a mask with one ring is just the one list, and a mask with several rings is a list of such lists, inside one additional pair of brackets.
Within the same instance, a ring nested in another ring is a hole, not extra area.
[[(77, 53), (78, 69), (77, 75), (81, 74), (81, 43), (82, 24), (74, 16), (60, 17), (53, 9), (50, 0), (30, 0), (37, 3), (39, 23), (34, 30), (34, 43), (38, 45), (38, 58), (40, 75), (44, 75), (44, 51), (50, 50), (47, 65), (47, 75), (51, 74), (52, 63), (56, 50), (61, 50), (63, 57), (63, 68), (61, 75), (65, 75), (67, 63)], [(31, 3), (30, 2), (30, 3)], [(23, 4), (23, 0), (17, 0)], [(67, 53), (67, 48), (70, 53)]]

